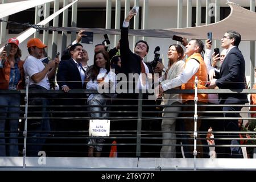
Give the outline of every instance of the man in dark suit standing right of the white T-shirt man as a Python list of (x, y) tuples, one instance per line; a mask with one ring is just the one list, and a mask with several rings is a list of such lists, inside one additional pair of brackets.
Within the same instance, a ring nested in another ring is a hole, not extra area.
[[(85, 105), (86, 96), (84, 94), (71, 94), (68, 93), (69, 90), (73, 89), (84, 89), (85, 85), (85, 70), (82, 68), (81, 60), (83, 56), (82, 45), (79, 43), (73, 44), (69, 48), (69, 55), (71, 56), (68, 60), (61, 60), (59, 64), (59, 69), (57, 71), (57, 83), (65, 93), (63, 98), (59, 100), (60, 105), (69, 106), (69, 107), (60, 107), (60, 110), (64, 110), (63, 113), (60, 114), (59, 117), (63, 117), (63, 119), (59, 119), (59, 122), (56, 123), (57, 130), (87, 130), (87, 121), (85, 119), (66, 119), (65, 117), (85, 117), (85, 113), (82, 111), (85, 110), (81, 105)], [(77, 105), (77, 106), (76, 106)], [(65, 113), (68, 111), (68, 113)], [(76, 113), (79, 111), (81, 113)], [(80, 135), (81, 133), (72, 133), (69, 135)], [(67, 135), (64, 135), (67, 137)], [(69, 143), (86, 143), (86, 140), (82, 139), (72, 139), (69, 137), (68, 139), (62, 139), (59, 142), (64, 144)], [(60, 150), (60, 149), (59, 149)], [(71, 150), (71, 151), (69, 151)], [(86, 148), (84, 146), (63, 146), (61, 151), (67, 151), (67, 153), (63, 152), (64, 156), (86, 156), (85, 151)], [(84, 151), (82, 153), (81, 151)]]

